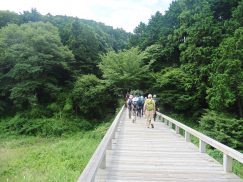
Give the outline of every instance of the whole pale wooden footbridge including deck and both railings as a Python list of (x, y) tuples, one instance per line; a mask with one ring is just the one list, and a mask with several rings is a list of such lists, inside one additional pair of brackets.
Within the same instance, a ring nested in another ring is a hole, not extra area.
[[(243, 163), (242, 153), (158, 115), (155, 128), (147, 128), (145, 118), (132, 123), (123, 107), (78, 181), (243, 182), (231, 173), (233, 160)], [(190, 143), (191, 135), (199, 148)], [(224, 154), (223, 166), (205, 153), (206, 145)]]

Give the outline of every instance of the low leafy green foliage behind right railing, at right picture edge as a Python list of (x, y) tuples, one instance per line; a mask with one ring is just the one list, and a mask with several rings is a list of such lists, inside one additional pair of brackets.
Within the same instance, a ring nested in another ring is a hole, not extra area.
[(243, 119), (231, 115), (208, 111), (200, 121), (202, 131), (221, 143), (238, 150), (243, 150)]

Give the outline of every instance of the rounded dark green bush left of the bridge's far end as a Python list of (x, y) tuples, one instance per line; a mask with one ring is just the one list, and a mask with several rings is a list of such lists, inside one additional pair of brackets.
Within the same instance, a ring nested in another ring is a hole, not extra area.
[(76, 112), (89, 119), (102, 118), (114, 112), (116, 99), (103, 80), (95, 75), (82, 75), (75, 82), (72, 100)]

